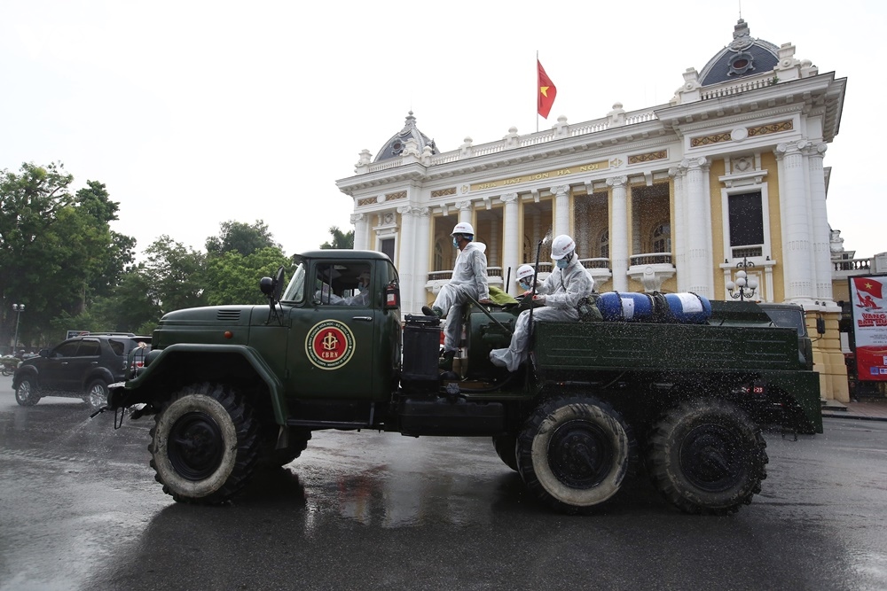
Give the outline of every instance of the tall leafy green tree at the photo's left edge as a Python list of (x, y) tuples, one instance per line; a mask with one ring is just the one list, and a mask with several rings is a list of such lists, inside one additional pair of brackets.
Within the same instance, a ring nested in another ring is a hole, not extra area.
[(12, 338), (12, 302), (27, 305), (20, 340), (58, 340), (53, 319), (85, 312), (132, 261), (135, 240), (109, 228), (118, 204), (105, 185), (71, 195), (73, 180), (60, 163), (0, 171), (0, 342)]

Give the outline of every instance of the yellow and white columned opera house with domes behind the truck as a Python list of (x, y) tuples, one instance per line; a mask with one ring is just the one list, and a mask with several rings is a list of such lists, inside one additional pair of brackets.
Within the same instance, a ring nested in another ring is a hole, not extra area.
[[(337, 181), (354, 199), (355, 248), (388, 253), (404, 311), (419, 313), (450, 276), (457, 222), (487, 245), (491, 284), (514, 292), (539, 240), (569, 234), (598, 292), (695, 292), (730, 299), (737, 265), (757, 280), (752, 299), (824, 318), (815, 368), (825, 399), (847, 401), (832, 289), (826, 212), (828, 144), (846, 79), (820, 73), (795, 47), (733, 40), (701, 71), (687, 69), (667, 105), (441, 152), (416, 127)], [(550, 268), (543, 253), (540, 272)]]

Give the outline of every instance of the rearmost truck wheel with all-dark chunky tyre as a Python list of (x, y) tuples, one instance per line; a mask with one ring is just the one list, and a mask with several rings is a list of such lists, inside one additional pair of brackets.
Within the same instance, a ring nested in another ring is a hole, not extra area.
[(648, 470), (653, 485), (678, 509), (726, 515), (761, 492), (765, 447), (760, 428), (742, 409), (726, 400), (690, 400), (655, 424)]

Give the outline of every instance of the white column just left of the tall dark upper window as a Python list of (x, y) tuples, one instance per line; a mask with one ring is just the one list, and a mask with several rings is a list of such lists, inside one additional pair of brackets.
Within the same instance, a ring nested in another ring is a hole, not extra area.
[(711, 269), (711, 226), (709, 191), (709, 161), (704, 157), (685, 159), (680, 167), (686, 172), (684, 188), (687, 191), (687, 292), (714, 298), (714, 280)]

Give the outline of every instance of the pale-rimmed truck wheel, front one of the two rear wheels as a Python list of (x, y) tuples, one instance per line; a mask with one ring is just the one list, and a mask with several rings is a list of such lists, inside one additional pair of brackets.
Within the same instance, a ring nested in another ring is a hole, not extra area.
[(613, 408), (591, 397), (547, 400), (517, 439), (518, 472), (539, 500), (585, 513), (622, 486), (631, 438)]

